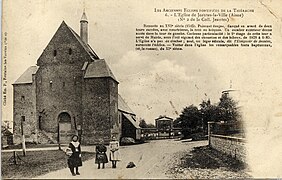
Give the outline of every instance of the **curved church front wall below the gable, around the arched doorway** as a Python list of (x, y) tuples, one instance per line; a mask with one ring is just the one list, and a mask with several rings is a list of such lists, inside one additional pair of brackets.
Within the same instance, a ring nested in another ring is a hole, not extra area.
[[(72, 129), (81, 121), (81, 75), (72, 66), (48, 66), (38, 70), (37, 107), (41, 129), (57, 133), (58, 116), (67, 112)], [(55, 135), (54, 135), (55, 136)]]

